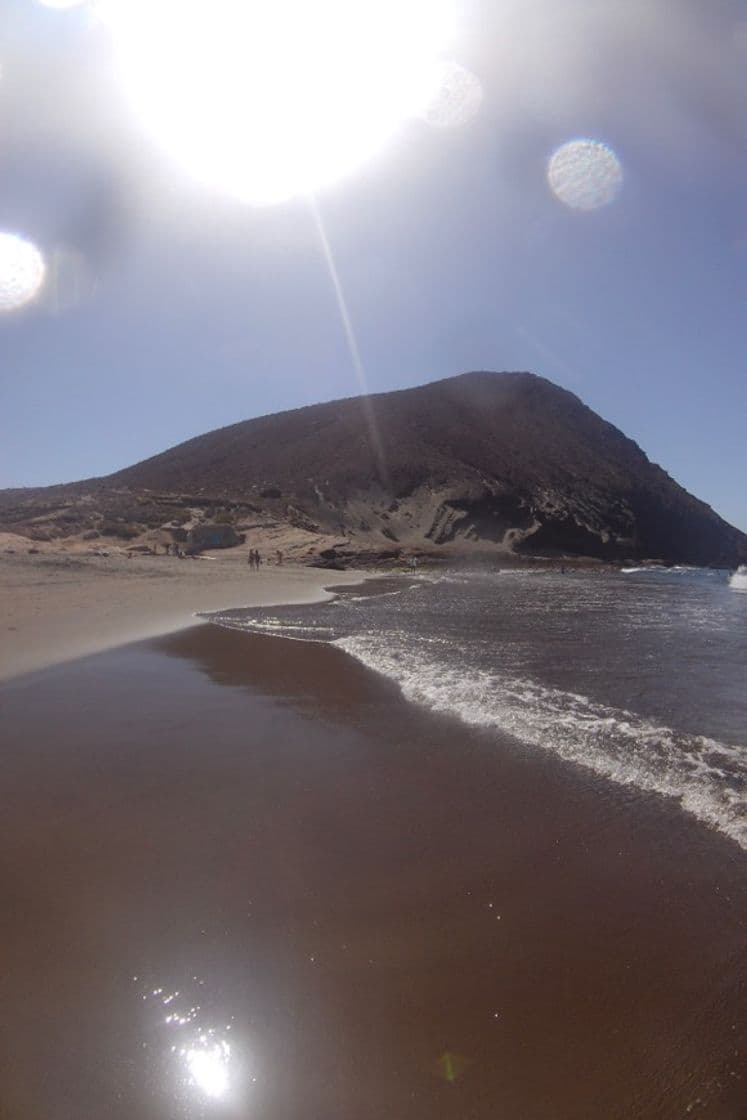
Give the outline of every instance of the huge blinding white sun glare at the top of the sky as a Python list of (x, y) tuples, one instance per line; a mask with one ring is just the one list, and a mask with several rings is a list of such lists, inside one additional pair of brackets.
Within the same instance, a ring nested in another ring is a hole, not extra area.
[(100, 0), (169, 156), (254, 204), (360, 167), (436, 94), (451, 0)]

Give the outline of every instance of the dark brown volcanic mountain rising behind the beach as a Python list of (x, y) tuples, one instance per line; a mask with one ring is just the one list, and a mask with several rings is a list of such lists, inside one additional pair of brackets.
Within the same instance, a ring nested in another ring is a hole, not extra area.
[(106, 478), (0, 494), (0, 523), (16, 532), (127, 521), (132, 535), (205, 516), (334, 534), (339, 554), (747, 559), (745, 534), (572, 393), (530, 373), (467, 373), (261, 417)]

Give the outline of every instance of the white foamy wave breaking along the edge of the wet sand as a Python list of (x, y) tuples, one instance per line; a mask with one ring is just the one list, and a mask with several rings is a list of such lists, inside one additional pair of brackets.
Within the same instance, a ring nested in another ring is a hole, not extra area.
[(396, 681), (404, 697), (464, 722), (493, 727), (622, 785), (675, 799), (747, 850), (747, 750), (688, 735), (588, 697), (486, 670), (466, 673), (392, 635), (335, 643)]

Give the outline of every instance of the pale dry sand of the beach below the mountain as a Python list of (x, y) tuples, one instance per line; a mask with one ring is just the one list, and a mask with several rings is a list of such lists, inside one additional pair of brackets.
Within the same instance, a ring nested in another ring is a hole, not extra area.
[(360, 581), (290, 564), (254, 572), (243, 550), (128, 559), (0, 534), (0, 680), (192, 626), (196, 612), (312, 603), (328, 584)]

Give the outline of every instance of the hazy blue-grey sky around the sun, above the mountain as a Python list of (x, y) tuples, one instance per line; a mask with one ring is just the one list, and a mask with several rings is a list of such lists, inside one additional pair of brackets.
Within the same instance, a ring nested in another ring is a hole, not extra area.
[[(408, 119), (315, 192), (370, 390), (531, 370), (747, 530), (747, 8), (455, 8), (442, 56), (479, 82), (478, 111)], [(0, 231), (48, 276), (0, 312), (0, 486), (358, 392), (309, 198), (255, 206), (199, 181), (136, 112), (119, 57), (92, 4), (2, 0)], [(597, 208), (548, 180), (578, 138), (619, 160)]]

